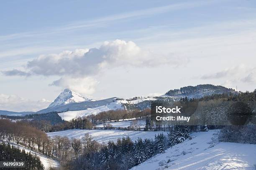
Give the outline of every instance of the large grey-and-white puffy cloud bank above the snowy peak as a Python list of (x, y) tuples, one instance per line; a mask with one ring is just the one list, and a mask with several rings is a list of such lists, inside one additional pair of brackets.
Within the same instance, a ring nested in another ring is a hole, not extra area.
[(186, 58), (144, 50), (132, 41), (115, 40), (105, 41), (100, 48), (41, 55), (28, 61), (25, 71), (13, 69), (2, 71), (2, 73), (5, 76), (61, 76), (51, 85), (92, 94), (98, 83), (94, 76), (108, 69), (157, 67), (164, 64), (178, 66), (184, 63), (187, 63)]

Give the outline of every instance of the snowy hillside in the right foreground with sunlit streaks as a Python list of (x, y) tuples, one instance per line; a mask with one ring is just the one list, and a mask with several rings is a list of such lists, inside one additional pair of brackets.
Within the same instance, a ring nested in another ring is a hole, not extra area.
[(218, 130), (192, 133), (131, 170), (254, 170), (256, 145), (218, 143)]

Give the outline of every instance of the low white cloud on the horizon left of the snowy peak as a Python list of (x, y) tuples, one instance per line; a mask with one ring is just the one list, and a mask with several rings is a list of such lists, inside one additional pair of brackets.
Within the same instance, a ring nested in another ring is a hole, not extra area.
[[(36, 112), (48, 107), (50, 103), (51, 101), (46, 99), (32, 101), (16, 95), (0, 94), (0, 110), (8, 110), (13, 112)], [(12, 109), (10, 110), (10, 108)]]

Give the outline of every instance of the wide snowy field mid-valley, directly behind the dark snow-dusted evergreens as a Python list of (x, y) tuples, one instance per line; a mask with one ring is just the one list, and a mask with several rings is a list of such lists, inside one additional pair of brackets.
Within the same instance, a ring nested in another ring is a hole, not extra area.
[(133, 130), (88, 130), (88, 129), (71, 129), (71, 130), (65, 130), (65, 131), (59, 131), (59, 132), (49, 132), (47, 135), (49, 137), (54, 136), (67, 136), (70, 139), (72, 138), (81, 138), (84, 136), (84, 134), (89, 133), (94, 137), (94, 140), (100, 143), (107, 143), (109, 140), (117, 141), (118, 138), (122, 137), (130, 137), (131, 140), (136, 140), (139, 137), (141, 139), (154, 139), (155, 134), (164, 133), (162, 131), (133, 131)]

